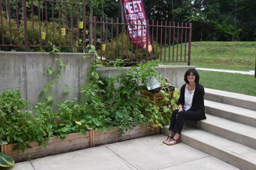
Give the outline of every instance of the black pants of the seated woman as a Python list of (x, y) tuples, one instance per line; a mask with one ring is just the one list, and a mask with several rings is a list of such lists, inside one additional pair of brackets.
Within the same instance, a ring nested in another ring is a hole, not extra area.
[(196, 111), (180, 111), (178, 113), (178, 111), (179, 109), (174, 110), (173, 114), (171, 115), (169, 130), (173, 130), (174, 132), (181, 134), (185, 121), (198, 120), (200, 113), (197, 113)]

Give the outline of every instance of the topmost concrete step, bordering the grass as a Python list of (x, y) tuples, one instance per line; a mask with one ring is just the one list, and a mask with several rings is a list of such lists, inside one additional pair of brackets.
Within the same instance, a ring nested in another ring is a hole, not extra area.
[(256, 97), (205, 88), (205, 99), (256, 110)]

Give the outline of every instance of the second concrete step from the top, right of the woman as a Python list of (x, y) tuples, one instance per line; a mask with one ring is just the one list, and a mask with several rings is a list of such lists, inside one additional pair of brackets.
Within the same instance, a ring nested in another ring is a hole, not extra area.
[(224, 103), (204, 100), (205, 113), (256, 127), (256, 111)]

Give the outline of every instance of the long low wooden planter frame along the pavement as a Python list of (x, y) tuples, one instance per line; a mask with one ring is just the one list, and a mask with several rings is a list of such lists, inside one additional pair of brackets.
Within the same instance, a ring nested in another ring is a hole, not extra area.
[(146, 137), (159, 134), (158, 128), (149, 129), (144, 124), (138, 124), (131, 131), (126, 131), (117, 138), (118, 127), (106, 131), (87, 131), (85, 136), (81, 133), (72, 133), (66, 135), (64, 140), (60, 140), (60, 136), (51, 137), (46, 142), (46, 149), (43, 146), (38, 146), (38, 142), (27, 142), (32, 148), (25, 148), (22, 150), (12, 150), (15, 144), (8, 144), (3, 142), (0, 144), (0, 152), (11, 156), (16, 162), (28, 161), (28, 159), (36, 159), (48, 155), (56, 155), (59, 153), (70, 152), (82, 148), (93, 147), (95, 145), (118, 142), (127, 139), (135, 139), (139, 137)]

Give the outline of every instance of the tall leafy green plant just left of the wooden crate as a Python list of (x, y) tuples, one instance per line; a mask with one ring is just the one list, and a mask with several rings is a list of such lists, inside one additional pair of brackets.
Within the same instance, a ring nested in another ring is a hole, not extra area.
[[(104, 76), (101, 78), (104, 82), (105, 92), (103, 99), (107, 107), (111, 111), (111, 118), (114, 124), (119, 128), (118, 137), (124, 134), (124, 131), (133, 129), (139, 123), (145, 123), (150, 120), (151, 128), (161, 126), (163, 119), (157, 107), (150, 100), (141, 98), (139, 96), (138, 83), (147, 83), (152, 76), (158, 76), (154, 69), (157, 62), (149, 62), (139, 64), (139, 67), (132, 67), (131, 69), (124, 69), (120, 67), (121, 59), (112, 62), (113, 65), (120, 70), (121, 74), (117, 76)], [(120, 84), (115, 87), (115, 84)]]

